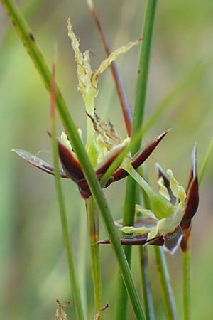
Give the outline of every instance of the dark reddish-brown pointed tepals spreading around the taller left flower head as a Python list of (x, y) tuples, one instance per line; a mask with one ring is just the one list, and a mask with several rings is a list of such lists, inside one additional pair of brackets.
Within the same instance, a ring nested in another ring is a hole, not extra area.
[[(163, 132), (163, 134), (160, 134), (160, 136), (154, 139), (153, 142), (151, 142), (151, 144), (148, 144), (148, 146), (146, 146), (145, 149), (133, 156), (131, 162), (133, 168), (137, 169), (138, 166), (140, 166), (141, 164), (143, 164), (144, 161), (146, 161), (148, 156), (151, 155), (156, 146), (158, 146), (160, 141), (165, 137), (165, 134), (167, 134), (167, 132)], [(111, 163), (114, 161), (114, 159), (116, 159), (116, 157), (125, 148), (125, 146), (125, 144), (119, 144), (116, 147), (114, 147), (114, 149), (109, 151), (109, 154), (106, 154), (101, 163), (98, 164), (96, 168), (94, 168), (99, 181), (102, 179)], [(18, 156), (21, 156), (21, 158), (28, 161), (28, 163), (33, 164), (33, 166), (36, 166), (38, 169), (41, 169), (47, 172), (48, 174), (54, 175), (53, 166), (43, 161), (42, 159), (39, 159), (38, 156), (34, 156), (28, 151), (24, 151), (21, 149), (14, 149), (13, 151), (15, 151), (16, 154), (18, 154)], [(70, 178), (72, 181), (77, 183), (82, 198), (89, 198), (89, 196), (91, 196), (91, 192), (89, 190), (88, 183), (84, 177), (84, 173), (82, 171), (80, 163), (75, 156), (75, 153), (73, 151), (70, 151), (70, 149), (68, 149), (67, 146), (65, 146), (61, 139), (58, 139), (58, 151), (60, 156), (60, 162), (62, 164), (60, 176), (62, 178)], [(128, 173), (124, 169), (119, 167), (118, 169), (116, 169), (116, 171), (114, 171), (114, 174), (111, 176), (111, 178), (109, 178), (109, 181), (105, 184), (104, 188), (108, 187), (112, 182), (119, 181), (122, 178), (125, 178), (126, 176), (128, 176)]]

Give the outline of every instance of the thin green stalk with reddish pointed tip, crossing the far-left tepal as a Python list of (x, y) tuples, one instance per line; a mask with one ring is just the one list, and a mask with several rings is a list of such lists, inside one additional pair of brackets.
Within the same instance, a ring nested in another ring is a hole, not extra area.
[(53, 164), (55, 169), (55, 188), (58, 196), (58, 204), (60, 208), (60, 220), (62, 225), (62, 235), (65, 244), (65, 250), (67, 253), (67, 262), (70, 275), (70, 289), (75, 300), (75, 312), (77, 319), (84, 320), (84, 313), (82, 309), (82, 302), (80, 298), (80, 289), (77, 284), (75, 265), (72, 255), (72, 247), (70, 245), (69, 229), (67, 223), (67, 214), (65, 210), (65, 201), (62, 195), (62, 186), (60, 183), (60, 169), (58, 164), (58, 144), (56, 138), (56, 124), (55, 124), (55, 67), (53, 65), (53, 81), (52, 81), (52, 92), (51, 92), (51, 132), (52, 132), (52, 146), (53, 146)]

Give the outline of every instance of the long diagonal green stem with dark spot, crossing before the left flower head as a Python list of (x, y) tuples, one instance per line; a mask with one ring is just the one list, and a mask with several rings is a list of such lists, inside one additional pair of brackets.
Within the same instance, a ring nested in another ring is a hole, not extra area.
[[(4, 9), (8, 12), (9, 17), (11, 18), (11, 21), (13, 22), (13, 25), (16, 28), (16, 31), (18, 32), (21, 38), (21, 41), (26, 46), (26, 49), (28, 50), (28, 53), (30, 54), (35, 67), (38, 69), (38, 72), (40, 73), (40, 76), (43, 82), (45, 83), (45, 87), (48, 91), (50, 91), (50, 70), (48, 69), (48, 66), (45, 63), (43, 55), (40, 53), (38, 46), (35, 44), (31, 30), (28, 27), (28, 24), (26, 23), (25, 19), (23, 18), (23, 15), (18, 10), (18, 7), (16, 6), (14, 1), (1, 0), (1, 4), (4, 6)], [(58, 112), (60, 114), (60, 118), (62, 119), (62, 124), (64, 124), (65, 129), (67, 130), (70, 142), (73, 148), (75, 149), (77, 158), (80, 161), (80, 165), (82, 166), (82, 170), (89, 184), (90, 191), (92, 192), (92, 195), (97, 201), (97, 205), (102, 215), (104, 226), (109, 235), (111, 246), (116, 255), (116, 260), (119, 263), (119, 268), (124, 279), (127, 292), (129, 293), (129, 297), (131, 299), (131, 304), (133, 306), (133, 311), (136, 315), (136, 319), (144, 320), (145, 316), (143, 314), (141, 301), (138, 297), (136, 287), (133, 283), (131, 271), (128, 262), (126, 261), (126, 257), (124, 255), (124, 250), (116, 233), (116, 227), (114, 225), (114, 220), (111, 216), (109, 206), (107, 204), (106, 198), (104, 197), (102, 188), (99, 185), (99, 181), (97, 181), (97, 176), (94, 172), (92, 164), (89, 161), (87, 152), (85, 151), (82, 141), (79, 137), (75, 123), (70, 113), (68, 112), (65, 100), (62, 98), (60, 90), (57, 86), (55, 87), (55, 102), (58, 108)]]

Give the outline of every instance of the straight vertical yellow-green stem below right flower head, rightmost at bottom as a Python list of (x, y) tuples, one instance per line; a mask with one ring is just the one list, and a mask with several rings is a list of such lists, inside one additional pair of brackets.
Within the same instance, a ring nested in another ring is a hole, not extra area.
[(191, 319), (191, 250), (182, 252), (182, 271), (183, 271), (183, 311), (184, 320)]

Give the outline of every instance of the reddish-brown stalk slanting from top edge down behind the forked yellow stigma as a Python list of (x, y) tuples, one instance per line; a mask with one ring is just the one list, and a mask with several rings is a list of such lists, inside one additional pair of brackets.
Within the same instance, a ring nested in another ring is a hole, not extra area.
[[(104, 35), (104, 30), (103, 30), (102, 24), (100, 23), (99, 18), (97, 16), (97, 12), (94, 9), (94, 3), (93, 3), (92, 0), (87, 0), (87, 4), (89, 6), (89, 10), (90, 10), (90, 12), (92, 14), (92, 17), (94, 18), (94, 22), (97, 25), (97, 29), (98, 29), (99, 35), (100, 35), (100, 37), (102, 39), (102, 43), (103, 43), (103, 46), (104, 46), (105, 53), (106, 53), (106, 55), (108, 57), (110, 55), (110, 53), (111, 53), (111, 48), (109, 46), (107, 38)], [(126, 91), (124, 89), (124, 85), (123, 85), (123, 82), (122, 82), (122, 79), (121, 79), (121, 75), (119, 74), (119, 69), (118, 69), (118, 67), (116, 65), (116, 62), (115, 61), (112, 62), (109, 68), (111, 69), (111, 73), (112, 73), (112, 76), (114, 78), (114, 82), (115, 82), (115, 85), (116, 85), (116, 90), (117, 90), (118, 95), (119, 95), (119, 101), (120, 101), (121, 109), (122, 109), (123, 116), (124, 116), (124, 122), (126, 124), (126, 131), (127, 131), (128, 136), (130, 137), (130, 135), (131, 135), (131, 124), (132, 124), (131, 107), (129, 105), (129, 101), (128, 101), (127, 96), (126, 96)]]

